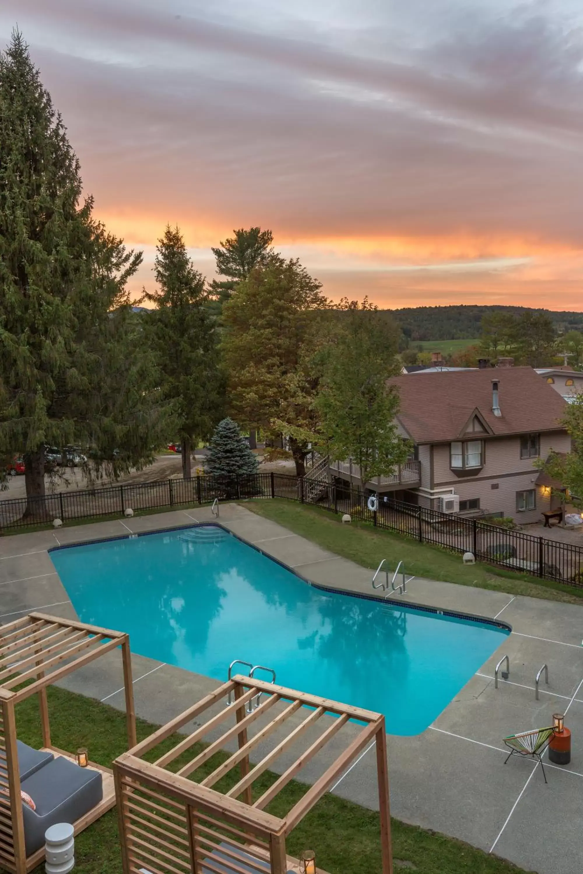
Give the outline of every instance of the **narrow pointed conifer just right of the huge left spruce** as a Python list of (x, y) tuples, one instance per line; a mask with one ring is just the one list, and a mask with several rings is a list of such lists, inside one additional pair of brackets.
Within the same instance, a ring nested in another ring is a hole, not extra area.
[(191, 476), (191, 449), (219, 419), (223, 382), (205, 279), (188, 257), (179, 229), (158, 240), (154, 273), (160, 290), (146, 295), (157, 309), (148, 316), (149, 336), (163, 398), (173, 405), (182, 444), (184, 478)]

